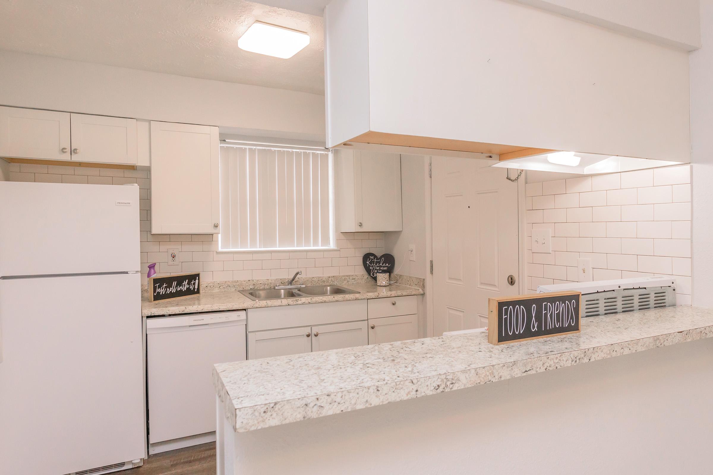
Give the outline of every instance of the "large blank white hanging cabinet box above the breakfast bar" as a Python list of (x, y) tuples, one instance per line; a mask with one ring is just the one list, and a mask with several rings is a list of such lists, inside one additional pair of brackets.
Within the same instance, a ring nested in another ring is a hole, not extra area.
[(370, 130), (689, 161), (684, 51), (501, 0), (339, 3), (368, 6), (369, 95), (328, 64), (328, 97), (368, 100)]

